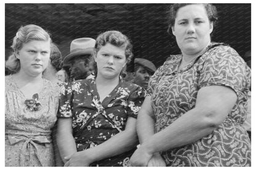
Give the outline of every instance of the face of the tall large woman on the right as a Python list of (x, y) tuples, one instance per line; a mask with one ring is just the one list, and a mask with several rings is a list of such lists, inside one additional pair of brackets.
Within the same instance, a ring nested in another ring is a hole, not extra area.
[(191, 4), (178, 9), (172, 33), (182, 53), (196, 55), (210, 42), (213, 23), (202, 4)]

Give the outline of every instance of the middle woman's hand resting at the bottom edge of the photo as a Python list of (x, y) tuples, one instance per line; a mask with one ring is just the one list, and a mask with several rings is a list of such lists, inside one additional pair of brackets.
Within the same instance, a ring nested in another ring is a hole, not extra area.
[(67, 160), (64, 166), (89, 166), (93, 162), (86, 154), (86, 150), (66, 156), (64, 159)]

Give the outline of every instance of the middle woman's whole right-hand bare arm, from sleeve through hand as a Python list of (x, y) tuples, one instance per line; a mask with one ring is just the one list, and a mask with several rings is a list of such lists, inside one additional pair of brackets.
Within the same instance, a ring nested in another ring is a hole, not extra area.
[(96, 147), (83, 150), (71, 156), (65, 166), (89, 166), (94, 161), (103, 160), (127, 152), (137, 143), (136, 119), (127, 119), (126, 129)]

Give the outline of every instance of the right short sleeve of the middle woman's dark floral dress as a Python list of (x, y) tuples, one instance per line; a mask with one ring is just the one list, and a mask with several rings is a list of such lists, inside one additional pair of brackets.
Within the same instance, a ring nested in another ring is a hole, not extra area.
[(146, 91), (142, 87), (139, 87), (138, 85), (135, 85), (134, 89), (130, 91), (130, 95), (127, 99), (127, 104), (128, 104), (127, 115), (129, 117), (137, 118), (138, 111), (142, 106), (145, 96), (146, 96)]

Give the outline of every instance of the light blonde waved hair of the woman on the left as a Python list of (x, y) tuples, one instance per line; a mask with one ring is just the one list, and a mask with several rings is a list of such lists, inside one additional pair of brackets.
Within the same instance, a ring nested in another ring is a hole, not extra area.
[(52, 40), (50, 39), (50, 34), (38, 25), (26, 25), (20, 27), (12, 42), (11, 48), (13, 52), (6, 61), (6, 68), (14, 73), (20, 71), (20, 60), (16, 57), (15, 53), (23, 47), (23, 44), (26, 44), (33, 40), (50, 40), (50, 42), (52, 42)]

